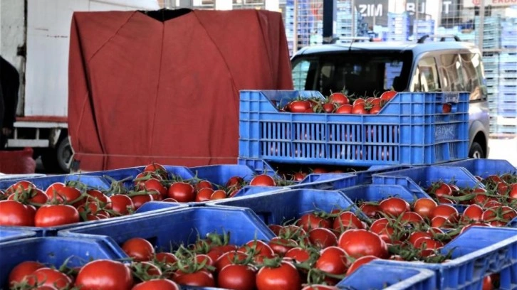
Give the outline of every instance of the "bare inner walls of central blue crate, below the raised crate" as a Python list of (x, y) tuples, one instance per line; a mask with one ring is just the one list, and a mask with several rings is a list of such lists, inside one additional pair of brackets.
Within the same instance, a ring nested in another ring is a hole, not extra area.
[(337, 190), (293, 189), (282, 193), (263, 193), (241, 198), (216, 200), (210, 207), (249, 208), (266, 223), (282, 225), (295, 221), (314, 210), (330, 211), (348, 209), (357, 211), (357, 206), (344, 193)]

